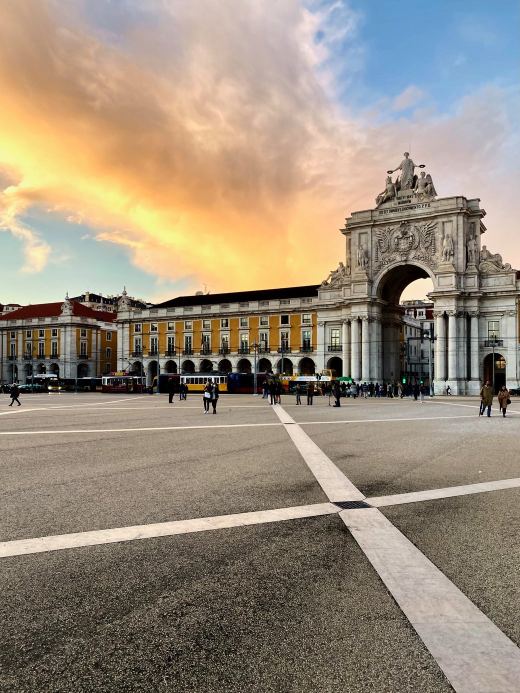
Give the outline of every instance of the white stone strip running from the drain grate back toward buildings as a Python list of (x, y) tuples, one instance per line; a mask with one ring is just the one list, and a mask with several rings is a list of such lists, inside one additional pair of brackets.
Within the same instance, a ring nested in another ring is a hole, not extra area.
[(282, 408), (272, 407), (272, 410), (286, 426), (286, 431), (302, 455), (307, 466), (318, 480), (318, 483), (331, 501), (363, 500), (365, 496), (350, 482), (345, 474), (336, 467), (325, 455), (321, 448), (309, 438), (294, 419)]

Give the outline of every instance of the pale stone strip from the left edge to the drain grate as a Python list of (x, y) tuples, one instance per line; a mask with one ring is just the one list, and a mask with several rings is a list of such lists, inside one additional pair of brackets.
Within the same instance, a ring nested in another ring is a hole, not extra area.
[(310, 518), (320, 515), (333, 515), (338, 513), (339, 510), (340, 509), (332, 503), (315, 503), (313, 505), (300, 505), (290, 508), (277, 508), (275, 510), (238, 513), (235, 515), (220, 515), (210, 518), (155, 523), (153, 525), (116, 527), (114, 529), (98, 529), (94, 532), (76, 532), (74, 534), (57, 534), (55, 536), (40, 536), (33, 539), (4, 541), (0, 543), (0, 558), (72, 549), (81, 546), (111, 544), (119, 541), (150, 539), (157, 536), (207, 532), (210, 529), (224, 529), (225, 527), (242, 527), (245, 525), (297, 520), (299, 518)]

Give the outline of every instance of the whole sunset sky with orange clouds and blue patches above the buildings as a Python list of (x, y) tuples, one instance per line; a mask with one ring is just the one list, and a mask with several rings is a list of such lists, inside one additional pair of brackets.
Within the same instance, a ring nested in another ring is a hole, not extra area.
[(1, 0), (0, 302), (319, 283), (410, 146), (520, 267), (517, 6)]

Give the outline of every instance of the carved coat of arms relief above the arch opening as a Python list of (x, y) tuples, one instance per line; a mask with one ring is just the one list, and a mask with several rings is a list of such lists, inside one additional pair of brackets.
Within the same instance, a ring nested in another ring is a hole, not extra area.
[(373, 245), (374, 271), (399, 260), (418, 260), (435, 267), (435, 227), (436, 222), (432, 221), (413, 224), (404, 221), (398, 227), (377, 229)]

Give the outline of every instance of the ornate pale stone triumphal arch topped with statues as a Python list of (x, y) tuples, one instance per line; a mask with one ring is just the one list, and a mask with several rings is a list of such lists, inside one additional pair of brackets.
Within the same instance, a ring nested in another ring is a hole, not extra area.
[[(423, 168), (405, 152), (401, 164), (388, 170), (374, 208), (352, 213), (340, 229), (345, 262), (318, 290), (318, 342), (327, 344), (329, 326), (340, 325), (343, 375), (397, 380), (404, 313), (399, 299), (410, 282), (429, 277), (435, 391), (450, 385), (453, 394), (478, 393), (491, 353), (505, 362), (508, 386), (518, 387), (519, 274), (483, 243), (480, 200), (439, 198)], [(499, 325), (500, 338), (495, 332), (489, 338), (491, 323)]]

